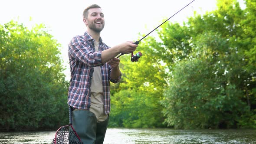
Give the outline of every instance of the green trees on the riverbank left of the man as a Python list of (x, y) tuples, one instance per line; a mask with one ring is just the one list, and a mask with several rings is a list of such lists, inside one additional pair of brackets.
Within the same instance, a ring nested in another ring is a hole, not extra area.
[[(67, 82), (59, 44), (44, 26), (0, 25), (0, 130), (50, 129), (66, 124)], [(65, 114), (65, 115), (62, 115)]]

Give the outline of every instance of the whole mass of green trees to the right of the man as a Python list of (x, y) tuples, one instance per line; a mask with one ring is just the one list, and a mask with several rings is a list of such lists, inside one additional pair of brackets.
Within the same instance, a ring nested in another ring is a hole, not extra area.
[(183, 25), (162, 25), (160, 41), (139, 44), (139, 62), (124, 56), (123, 79), (112, 93), (114, 125), (162, 122), (162, 115), (149, 116), (159, 117), (161, 101), (166, 124), (175, 128), (255, 127), (256, 3), (246, 0), (245, 10), (236, 0), (217, 6)]

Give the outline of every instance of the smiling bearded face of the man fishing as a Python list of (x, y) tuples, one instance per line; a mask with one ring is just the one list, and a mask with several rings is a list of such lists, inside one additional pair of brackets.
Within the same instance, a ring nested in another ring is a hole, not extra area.
[(100, 8), (92, 8), (88, 10), (87, 19), (84, 19), (87, 28), (99, 33), (105, 25), (104, 14)]

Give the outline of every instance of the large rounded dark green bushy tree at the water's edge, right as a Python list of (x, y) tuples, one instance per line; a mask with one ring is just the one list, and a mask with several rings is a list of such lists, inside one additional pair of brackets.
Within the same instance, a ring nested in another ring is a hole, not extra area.
[(246, 111), (235, 80), (243, 69), (232, 64), (240, 56), (217, 34), (203, 34), (197, 42), (194, 58), (175, 65), (163, 101), (166, 122), (175, 128), (232, 128)]

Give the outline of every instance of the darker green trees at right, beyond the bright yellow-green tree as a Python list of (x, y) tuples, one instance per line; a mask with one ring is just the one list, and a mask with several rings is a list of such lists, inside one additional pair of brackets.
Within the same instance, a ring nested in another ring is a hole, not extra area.
[[(245, 33), (245, 27), (251, 29), (245, 21), (252, 19), (247, 12), (236, 0), (221, 0), (217, 10), (195, 14), (184, 26), (165, 25), (159, 32), (174, 62), (170, 87), (161, 102), (168, 125), (253, 128), (256, 124), (256, 71), (251, 55), (255, 47)], [(172, 31), (184, 33), (183, 37)]]

